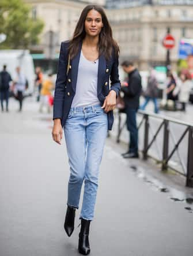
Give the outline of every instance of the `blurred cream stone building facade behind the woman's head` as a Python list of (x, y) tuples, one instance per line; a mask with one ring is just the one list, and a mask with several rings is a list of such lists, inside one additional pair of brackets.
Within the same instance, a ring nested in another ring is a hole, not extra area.
[[(25, 1), (32, 5), (32, 17), (38, 16), (45, 23), (41, 43), (31, 46), (31, 51), (44, 53), (46, 58), (56, 57), (60, 42), (73, 35), (81, 10), (89, 2), (96, 2)], [(105, 10), (113, 36), (120, 45), (120, 61), (132, 60), (141, 70), (165, 65), (166, 49), (162, 39), (168, 30), (176, 40), (171, 50), (173, 68), (178, 60), (179, 40), (193, 36), (193, 0), (107, 0)]]

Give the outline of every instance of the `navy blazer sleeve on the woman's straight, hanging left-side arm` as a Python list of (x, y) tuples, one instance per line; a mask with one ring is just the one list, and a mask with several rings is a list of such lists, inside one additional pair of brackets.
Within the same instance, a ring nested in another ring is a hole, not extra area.
[(56, 118), (62, 119), (63, 101), (65, 98), (66, 70), (67, 60), (65, 54), (65, 46), (62, 42), (60, 45), (60, 54), (58, 62), (58, 71), (56, 77), (55, 93), (54, 93), (54, 113), (53, 120)]

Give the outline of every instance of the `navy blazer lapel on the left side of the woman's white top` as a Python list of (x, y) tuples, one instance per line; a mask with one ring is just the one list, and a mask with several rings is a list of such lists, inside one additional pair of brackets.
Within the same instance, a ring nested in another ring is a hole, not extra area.
[(78, 64), (80, 61), (80, 55), (81, 55), (81, 49), (82, 49), (82, 42), (79, 44), (79, 50), (77, 55), (73, 58), (71, 61), (71, 86), (75, 92), (76, 86), (77, 86), (77, 76), (78, 76)]

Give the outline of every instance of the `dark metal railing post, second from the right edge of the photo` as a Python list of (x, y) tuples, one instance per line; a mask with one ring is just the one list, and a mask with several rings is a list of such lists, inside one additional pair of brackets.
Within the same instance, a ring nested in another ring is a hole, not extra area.
[(164, 120), (164, 144), (163, 144), (163, 153), (162, 153), (162, 170), (166, 170), (168, 168), (168, 163), (166, 159), (168, 159), (168, 148), (169, 148), (169, 121)]

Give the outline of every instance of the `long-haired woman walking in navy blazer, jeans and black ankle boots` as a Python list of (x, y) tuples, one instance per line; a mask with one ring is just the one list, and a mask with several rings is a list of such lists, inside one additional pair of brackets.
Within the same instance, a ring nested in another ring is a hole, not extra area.
[(90, 253), (89, 226), (94, 216), (99, 165), (120, 91), (118, 54), (107, 17), (97, 5), (82, 10), (73, 39), (60, 47), (52, 137), (60, 144), (64, 127), (70, 165), (65, 218), (68, 236), (74, 230), (75, 209), (83, 181), (85, 184), (78, 244), (84, 255)]

